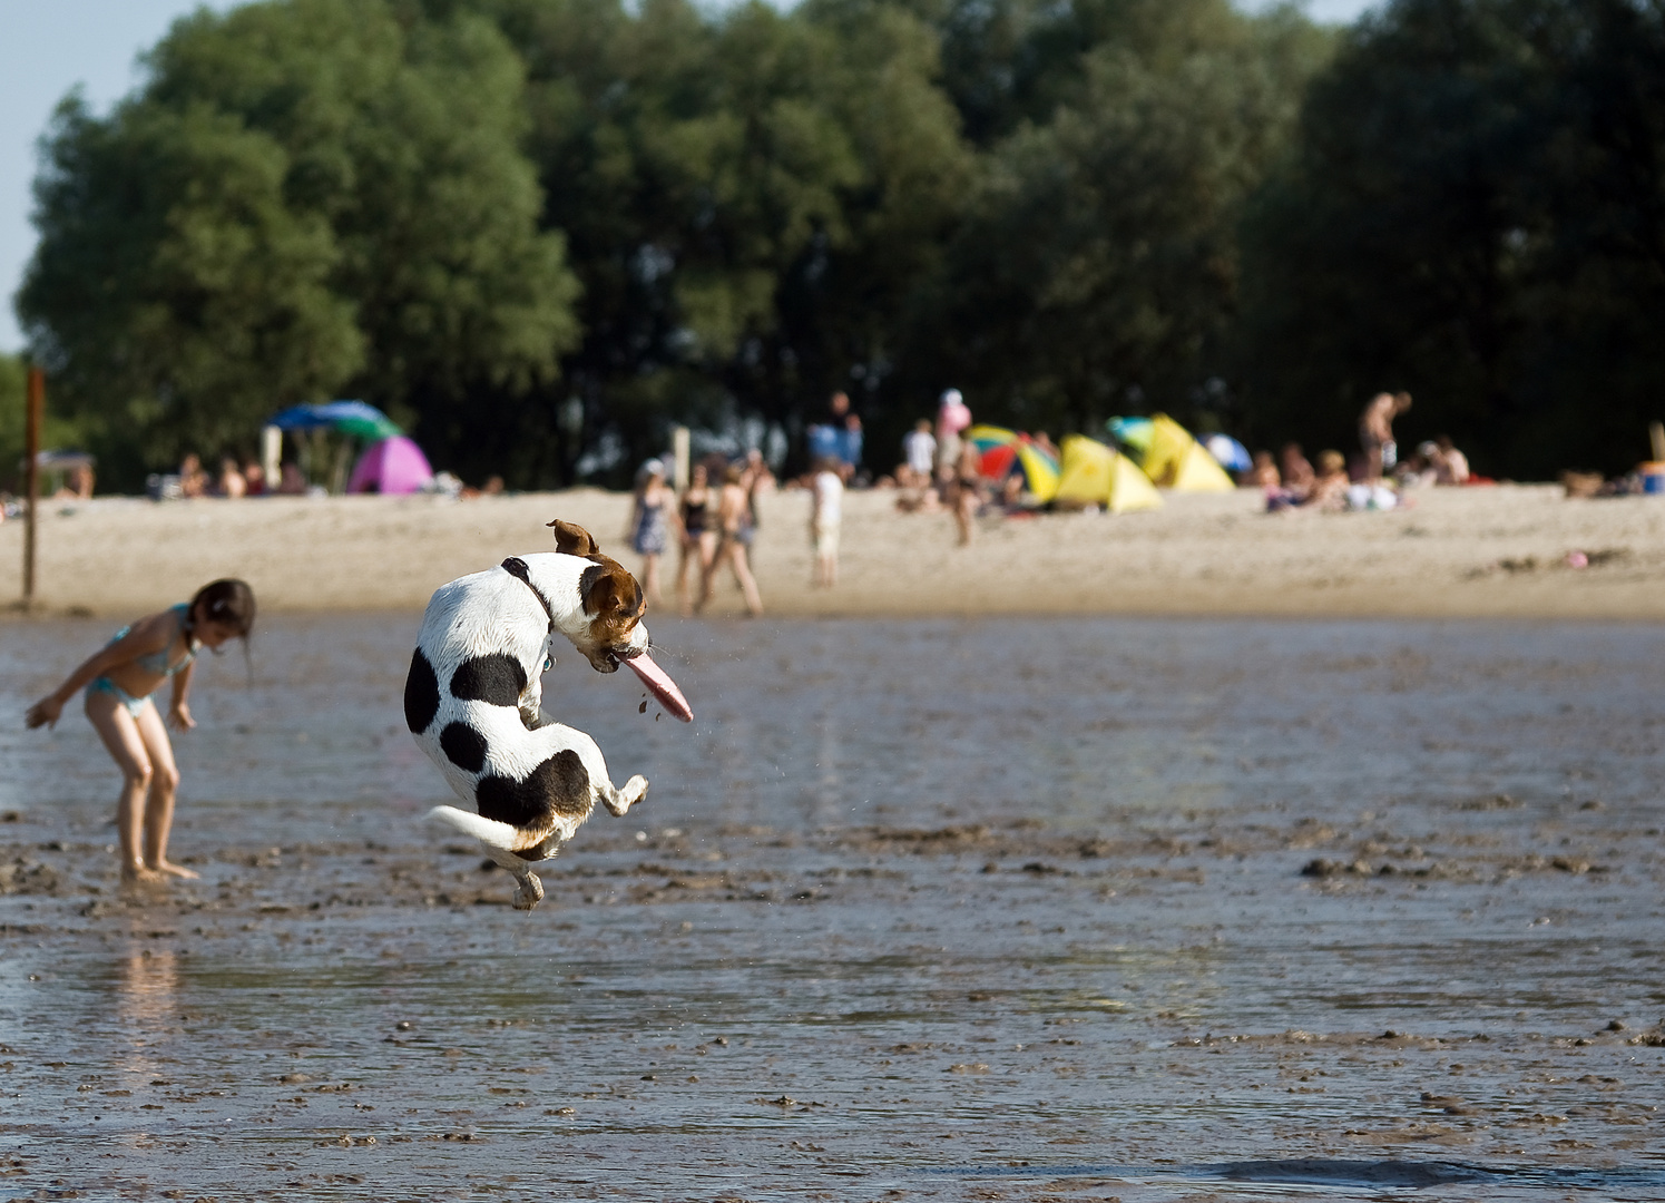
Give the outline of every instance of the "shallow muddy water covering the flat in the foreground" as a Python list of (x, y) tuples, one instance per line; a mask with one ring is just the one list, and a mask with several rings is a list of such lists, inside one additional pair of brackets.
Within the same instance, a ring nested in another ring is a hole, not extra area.
[(415, 626), (205, 661), (173, 890), (0, 731), (0, 1193), (1665, 1198), (1657, 628), (659, 618), (696, 723), (556, 666), (653, 790), (519, 915)]

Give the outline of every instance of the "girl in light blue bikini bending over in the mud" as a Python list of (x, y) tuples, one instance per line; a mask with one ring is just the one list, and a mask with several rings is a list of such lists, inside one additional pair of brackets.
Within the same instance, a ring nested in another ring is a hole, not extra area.
[(30, 728), (53, 726), (70, 696), (87, 688), (87, 720), (122, 770), (122, 798), (115, 821), (122, 840), (122, 878), (157, 881), (196, 876), (168, 860), (173, 795), (180, 771), (173, 745), (150, 695), (173, 680), (168, 721), (181, 731), (196, 723), (186, 700), (191, 671), (201, 648), (218, 651), (243, 640), (255, 625), (255, 593), (240, 580), (216, 580), (196, 590), (190, 602), (123, 626), (102, 651), (93, 653), (57, 690), (28, 708)]

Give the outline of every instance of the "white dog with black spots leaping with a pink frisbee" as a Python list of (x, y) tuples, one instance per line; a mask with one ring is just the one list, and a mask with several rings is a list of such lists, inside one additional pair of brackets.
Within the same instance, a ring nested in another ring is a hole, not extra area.
[(543, 713), (539, 678), (554, 663), (556, 631), (596, 671), (629, 665), (669, 713), (694, 716), (648, 655), (636, 578), (583, 527), (549, 525), (556, 552), (511, 557), (435, 592), (405, 680), (411, 735), (473, 806), (430, 815), (480, 840), (514, 875), (516, 910), (543, 898), (531, 866), (571, 840), (598, 800), (623, 815), (648, 791), (643, 776), (616, 788), (596, 741)]

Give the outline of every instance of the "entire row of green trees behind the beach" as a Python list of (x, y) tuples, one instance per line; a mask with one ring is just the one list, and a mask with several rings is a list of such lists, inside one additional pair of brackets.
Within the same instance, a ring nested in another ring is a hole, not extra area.
[(17, 308), (125, 487), (328, 397), (551, 487), (671, 423), (801, 457), (842, 390), (882, 470), (946, 387), (1255, 445), (1404, 388), (1482, 472), (1612, 472), (1662, 152), (1662, 0), (261, 0), (58, 107)]

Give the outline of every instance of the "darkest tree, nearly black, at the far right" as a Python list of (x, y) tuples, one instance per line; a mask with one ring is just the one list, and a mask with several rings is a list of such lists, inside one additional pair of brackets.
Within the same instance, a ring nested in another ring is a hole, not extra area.
[(1665, 10), (1400, 0), (1315, 83), (1245, 225), (1239, 330), (1270, 438), (1405, 435), (1475, 467), (1623, 470), (1665, 367)]

